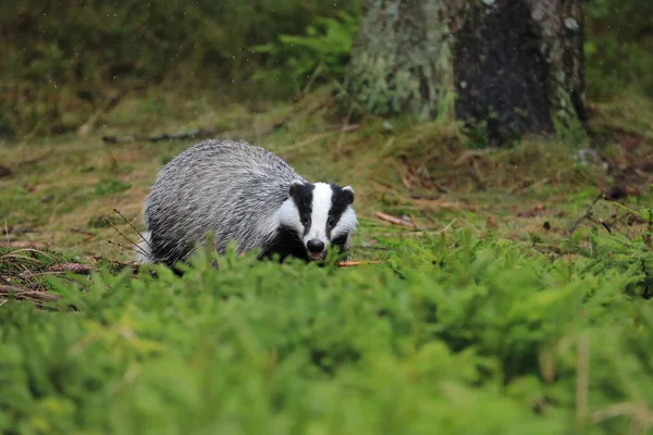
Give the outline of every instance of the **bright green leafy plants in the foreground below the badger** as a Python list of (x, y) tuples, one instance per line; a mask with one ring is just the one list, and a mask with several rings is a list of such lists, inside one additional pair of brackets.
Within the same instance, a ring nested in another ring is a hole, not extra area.
[[(620, 434), (648, 424), (645, 409), (609, 408), (653, 399), (643, 334), (653, 311), (624, 293), (633, 273), (591, 273), (591, 258), (552, 262), (468, 231), (395, 248), (384, 265), (340, 271), (200, 250), (183, 277), (152, 266), (156, 277), (101, 271), (79, 288), (53, 279), (60, 312), (0, 308), (0, 428)], [(590, 414), (577, 421), (586, 395)]]

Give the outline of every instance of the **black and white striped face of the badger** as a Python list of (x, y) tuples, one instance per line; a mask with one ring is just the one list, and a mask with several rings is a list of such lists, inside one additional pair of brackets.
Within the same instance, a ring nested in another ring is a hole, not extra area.
[(348, 248), (358, 220), (352, 208), (354, 189), (326, 183), (293, 182), (280, 223), (293, 228), (311, 260), (323, 259), (331, 246)]

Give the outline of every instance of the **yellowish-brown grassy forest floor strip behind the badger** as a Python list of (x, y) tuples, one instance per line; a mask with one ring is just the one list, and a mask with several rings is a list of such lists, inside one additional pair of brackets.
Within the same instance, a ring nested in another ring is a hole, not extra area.
[[(478, 144), (452, 124), (330, 122), (332, 109), (328, 92), (257, 111), (131, 99), (103, 114), (90, 134), (5, 145), (3, 245), (128, 261), (131, 244), (119, 231), (138, 239), (126, 221), (143, 228), (143, 201), (157, 172), (205, 137), (249, 140), (309, 178), (354, 186), (361, 225), (353, 257), (361, 259), (383, 258), (381, 239), (387, 233), (415, 237), (461, 226), (557, 251), (574, 228), (595, 226), (599, 219), (626, 233), (638, 224), (613, 202), (595, 202), (602, 192), (614, 196), (619, 192), (611, 189), (618, 188), (627, 196), (620, 202), (636, 208), (650, 199), (653, 102), (648, 100), (591, 104), (590, 137), (526, 138), (510, 149), (475, 148)], [(164, 139), (194, 132), (198, 135)], [(593, 220), (577, 224), (590, 207)]]

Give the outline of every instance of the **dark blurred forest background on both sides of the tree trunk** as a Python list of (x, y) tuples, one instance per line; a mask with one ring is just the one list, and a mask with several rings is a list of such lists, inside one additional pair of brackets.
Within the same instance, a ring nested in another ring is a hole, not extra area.
[[(583, 8), (588, 100), (653, 96), (652, 3)], [(337, 86), (360, 9), (360, 0), (5, 0), (0, 137), (71, 132), (127, 95), (256, 105)]]

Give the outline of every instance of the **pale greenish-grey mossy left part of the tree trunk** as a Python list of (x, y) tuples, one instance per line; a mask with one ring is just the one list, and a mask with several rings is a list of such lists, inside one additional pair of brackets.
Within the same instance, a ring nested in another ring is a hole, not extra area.
[(409, 113), (420, 121), (448, 112), (454, 74), (449, 36), (464, 4), (369, 1), (345, 80), (356, 104), (373, 114)]

